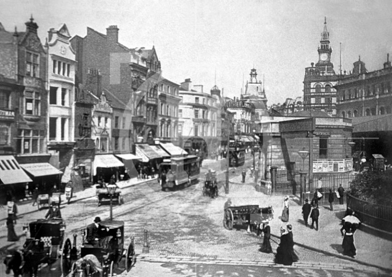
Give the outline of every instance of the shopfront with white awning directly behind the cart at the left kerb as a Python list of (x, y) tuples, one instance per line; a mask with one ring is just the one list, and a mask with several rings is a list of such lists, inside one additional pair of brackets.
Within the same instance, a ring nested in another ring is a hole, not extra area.
[(95, 155), (93, 162), (94, 182), (101, 176), (104, 178), (105, 182), (109, 182), (113, 175), (116, 177), (116, 180), (118, 180), (119, 171), (122, 167), (124, 167), (124, 164), (113, 154)]

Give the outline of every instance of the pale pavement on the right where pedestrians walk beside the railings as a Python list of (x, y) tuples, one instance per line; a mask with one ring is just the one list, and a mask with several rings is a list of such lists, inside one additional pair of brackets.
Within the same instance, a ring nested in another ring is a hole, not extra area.
[(360, 227), (354, 235), (357, 256), (353, 259), (342, 255), (342, 237), (340, 234), (340, 222), (344, 217), (347, 206), (334, 203), (334, 210), (330, 211), (329, 203), (322, 203), (320, 206), (319, 229), (311, 229), (311, 219), (306, 227), (302, 216), (302, 206), (299, 204), (299, 197), (290, 196), (289, 201), (289, 221), (282, 222), (282, 205), (284, 195), (268, 196), (257, 192), (254, 178), (247, 177), (246, 183), (241, 182), (241, 176), (230, 179), (230, 193), (225, 194), (221, 188), (219, 195), (231, 198), (233, 203), (236, 200), (258, 199), (262, 206), (272, 205), (274, 209), (274, 219), (271, 221), (271, 235), (274, 240), (280, 238), (280, 227), (287, 224), (292, 225), (292, 233), (296, 247), (302, 247), (312, 251), (323, 252), (325, 255), (335, 256), (347, 261), (354, 261), (365, 266), (373, 266), (382, 270), (392, 272), (392, 241), (383, 236), (376, 236), (369, 232), (369, 228)]

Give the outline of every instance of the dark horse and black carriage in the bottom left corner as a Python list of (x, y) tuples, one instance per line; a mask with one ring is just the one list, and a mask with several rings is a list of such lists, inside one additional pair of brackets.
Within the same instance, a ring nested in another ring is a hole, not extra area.
[[(41, 264), (54, 263), (61, 253), (65, 223), (61, 218), (39, 219), (29, 224), (30, 238), (21, 251), (14, 250), (4, 263), (14, 275), (28, 273), (37, 276)], [(23, 261), (23, 263), (22, 263)]]

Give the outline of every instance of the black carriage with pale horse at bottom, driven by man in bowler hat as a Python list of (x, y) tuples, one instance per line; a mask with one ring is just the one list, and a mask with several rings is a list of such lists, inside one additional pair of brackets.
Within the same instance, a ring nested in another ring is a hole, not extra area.
[[(61, 256), (61, 271), (63, 276), (113, 276), (114, 264), (125, 260), (125, 269), (129, 271), (135, 263), (135, 248), (131, 239), (128, 248), (125, 248), (124, 221), (103, 221), (108, 227), (105, 238), (99, 244), (90, 244), (88, 228), (83, 232), (81, 246), (77, 248), (77, 235), (74, 234), (74, 242), (68, 238), (64, 242)], [(101, 243), (102, 242), (102, 243)]]

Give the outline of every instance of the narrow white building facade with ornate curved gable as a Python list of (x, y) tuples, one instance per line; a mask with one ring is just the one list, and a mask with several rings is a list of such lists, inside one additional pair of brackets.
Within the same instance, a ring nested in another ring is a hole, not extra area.
[(48, 31), (47, 148), (51, 164), (61, 171), (73, 167), (75, 145), (75, 51), (68, 28), (62, 24)]

